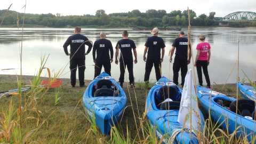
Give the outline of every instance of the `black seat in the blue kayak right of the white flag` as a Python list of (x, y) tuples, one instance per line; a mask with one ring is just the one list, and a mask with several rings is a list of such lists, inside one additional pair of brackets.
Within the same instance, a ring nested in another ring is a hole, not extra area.
[[(236, 101), (230, 103), (229, 108), (233, 113), (236, 113)], [(253, 100), (238, 100), (237, 101), (237, 114), (241, 116), (252, 116), (255, 109), (255, 102)]]

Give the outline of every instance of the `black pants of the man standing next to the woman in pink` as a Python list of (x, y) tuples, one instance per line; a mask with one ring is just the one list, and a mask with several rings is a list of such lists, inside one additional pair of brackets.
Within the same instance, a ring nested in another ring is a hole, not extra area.
[(179, 71), (181, 72), (181, 85), (185, 83), (185, 77), (188, 71), (188, 55), (187, 54), (175, 54), (173, 62), (173, 83), (178, 85)]

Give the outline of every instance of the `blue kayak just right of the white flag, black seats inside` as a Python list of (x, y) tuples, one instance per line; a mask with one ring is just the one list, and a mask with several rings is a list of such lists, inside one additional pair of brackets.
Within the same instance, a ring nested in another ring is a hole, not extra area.
[[(197, 96), (205, 112), (210, 115), (213, 121), (221, 124), (228, 133), (236, 130), (237, 137), (247, 138), (249, 142), (256, 138), (255, 103), (252, 100), (236, 100), (228, 95), (211, 91), (206, 87), (197, 85)], [(236, 103), (238, 103), (236, 114)], [(237, 116), (237, 119), (236, 119)], [(256, 142), (254, 142), (256, 143)]]

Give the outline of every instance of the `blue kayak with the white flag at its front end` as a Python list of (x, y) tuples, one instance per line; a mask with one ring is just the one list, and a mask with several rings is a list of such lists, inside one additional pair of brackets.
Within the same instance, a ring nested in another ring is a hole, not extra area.
[[(171, 82), (168, 78), (162, 76), (148, 92), (146, 100), (147, 119), (150, 125), (156, 129), (156, 135), (158, 139), (164, 137), (163, 143), (198, 143), (198, 138), (195, 133), (189, 133), (189, 127), (184, 127), (183, 133), (182, 124), (178, 122), (180, 101), (159, 101), (158, 93), (161, 87), (169, 87), (170, 91), (177, 90), (178, 93), (182, 93), (180, 87)], [(175, 89), (173, 89), (175, 88)], [(175, 94), (174, 94), (175, 95)], [(169, 96), (171, 99), (171, 94)], [(167, 108), (166, 108), (167, 107)], [(201, 119), (203, 114), (200, 111)]]

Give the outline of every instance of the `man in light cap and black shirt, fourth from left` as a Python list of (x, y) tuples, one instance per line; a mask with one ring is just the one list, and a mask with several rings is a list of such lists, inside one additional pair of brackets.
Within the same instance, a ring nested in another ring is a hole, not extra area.
[[(153, 65), (156, 71), (156, 81), (158, 81), (162, 74), (161, 74), (161, 63), (164, 60), (164, 40), (161, 37), (158, 37), (158, 28), (154, 28), (151, 31), (153, 36), (148, 37), (145, 43), (145, 50), (143, 54), (143, 60), (146, 61), (146, 68), (145, 68), (145, 76), (144, 82), (149, 82), (149, 76)], [(161, 57), (161, 50), (162, 50), (162, 57)], [(146, 58), (146, 53), (148, 53)]]

